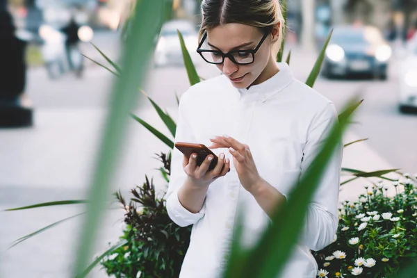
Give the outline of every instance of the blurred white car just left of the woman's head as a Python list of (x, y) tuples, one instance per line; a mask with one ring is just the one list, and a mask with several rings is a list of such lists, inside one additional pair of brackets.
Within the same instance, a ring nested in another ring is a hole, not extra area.
[(165, 23), (161, 29), (154, 56), (154, 64), (157, 67), (183, 65), (183, 55), (177, 30), (183, 35), (193, 62), (197, 64), (201, 60), (196, 51), (198, 47), (198, 31), (195, 25), (186, 20), (173, 20)]

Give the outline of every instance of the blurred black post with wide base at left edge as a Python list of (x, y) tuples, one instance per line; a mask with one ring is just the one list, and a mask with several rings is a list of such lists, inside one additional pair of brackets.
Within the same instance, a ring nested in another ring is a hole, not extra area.
[(26, 42), (15, 35), (7, 0), (0, 0), (0, 127), (32, 125), (32, 110), (22, 107), (26, 85)]

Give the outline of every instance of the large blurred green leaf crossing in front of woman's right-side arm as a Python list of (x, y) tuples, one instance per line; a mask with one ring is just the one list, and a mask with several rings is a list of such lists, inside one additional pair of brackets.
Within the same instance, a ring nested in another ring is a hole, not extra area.
[[(234, 260), (231, 258), (225, 272), (230, 275), (224, 277), (279, 277), (304, 227), (304, 217), (322, 173), (335, 147), (341, 142), (343, 131), (347, 128), (349, 119), (357, 108), (355, 102), (350, 101), (344, 114), (345, 117), (341, 118), (339, 124), (334, 124), (318, 156), (288, 195), (287, 203), (277, 207), (271, 217), (273, 224), (268, 226), (259, 243), (250, 250), (240, 266), (230, 270), (231, 262)], [(234, 254), (234, 250), (231, 254)]]

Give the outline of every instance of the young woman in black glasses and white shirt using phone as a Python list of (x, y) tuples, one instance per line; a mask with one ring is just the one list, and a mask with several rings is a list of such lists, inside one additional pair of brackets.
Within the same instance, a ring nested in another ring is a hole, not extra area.
[[(167, 212), (179, 226), (193, 225), (181, 278), (221, 274), (237, 211), (243, 244), (252, 247), (337, 122), (331, 101), (275, 62), (284, 28), (278, 0), (204, 0), (202, 15), (197, 51), (222, 74), (183, 94), (175, 141), (207, 145), (219, 160), (208, 171), (212, 156), (197, 166), (195, 154), (172, 154)], [(336, 234), (341, 159), (342, 144), (279, 277), (316, 277), (310, 250)]]

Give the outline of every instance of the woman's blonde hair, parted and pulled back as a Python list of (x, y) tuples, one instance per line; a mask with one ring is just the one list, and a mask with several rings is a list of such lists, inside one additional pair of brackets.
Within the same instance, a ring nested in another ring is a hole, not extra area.
[(278, 53), (285, 28), (279, 0), (203, 0), (201, 10), (199, 40), (204, 32), (228, 23), (254, 26), (269, 33), (279, 23), (278, 41), (274, 49)]

